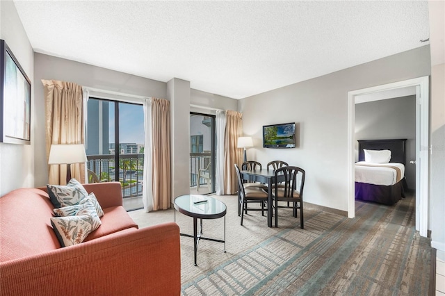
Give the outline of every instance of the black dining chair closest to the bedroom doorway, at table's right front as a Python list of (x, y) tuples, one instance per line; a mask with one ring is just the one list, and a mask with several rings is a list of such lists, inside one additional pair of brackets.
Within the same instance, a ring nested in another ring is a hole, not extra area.
[[(305, 187), (306, 172), (300, 167), (281, 167), (275, 170), (275, 179), (284, 174), (283, 188), (275, 186), (272, 195), (272, 208), (275, 210), (275, 227), (278, 227), (278, 208), (292, 208), (293, 217), (297, 217), (300, 210), (300, 228), (304, 228), (303, 220), (303, 188)], [(299, 186), (298, 186), (299, 183)], [(289, 202), (290, 205), (283, 206), (278, 202)]]

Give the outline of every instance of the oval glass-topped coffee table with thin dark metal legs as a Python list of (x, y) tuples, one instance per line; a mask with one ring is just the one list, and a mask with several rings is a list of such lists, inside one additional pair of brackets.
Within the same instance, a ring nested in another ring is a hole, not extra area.
[[(179, 213), (193, 217), (193, 236), (186, 233), (180, 233), (181, 236), (188, 236), (193, 238), (193, 249), (195, 251), (195, 266), (197, 246), (200, 240), (211, 240), (213, 242), (223, 242), (225, 252), (225, 214), (227, 213), (227, 206), (225, 203), (214, 199), (213, 197), (205, 195), (181, 195), (175, 198), (175, 210)], [(176, 222), (175, 211), (175, 222)], [(204, 238), (202, 236), (202, 220), (203, 219), (218, 219), (224, 217), (224, 240), (217, 240), (214, 238)], [(200, 229), (197, 230), (197, 220), (200, 219)]]

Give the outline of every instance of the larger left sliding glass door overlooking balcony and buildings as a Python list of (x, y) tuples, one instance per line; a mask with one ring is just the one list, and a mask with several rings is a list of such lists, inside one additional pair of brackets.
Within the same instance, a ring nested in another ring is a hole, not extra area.
[(144, 111), (140, 104), (88, 99), (88, 180), (119, 181), (124, 207), (142, 208)]

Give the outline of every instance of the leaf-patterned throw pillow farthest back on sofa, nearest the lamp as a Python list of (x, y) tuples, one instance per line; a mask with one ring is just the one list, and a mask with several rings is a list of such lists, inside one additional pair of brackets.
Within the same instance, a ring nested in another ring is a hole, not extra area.
[(54, 208), (74, 206), (88, 196), (88, 192), (76, 179), (71, 179), (66, 186), (47, 185), (47, 190)]

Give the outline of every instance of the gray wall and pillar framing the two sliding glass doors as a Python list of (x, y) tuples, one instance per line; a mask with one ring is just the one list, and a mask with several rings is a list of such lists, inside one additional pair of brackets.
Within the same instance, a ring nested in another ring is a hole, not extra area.
[[(188, 136), (189, 112), (190, 104), (199, 104), (201, 106), (209, 106), (222, 109), (236, 109), (237, 101), (227, 97), (221, 97), (208, 92), (200, 92), (190, 88), (188, 81), (181, 79), (172, 79), (169, 81), (171, 85), (181, 86), (181, 88), (170, 88), (168, 91), (168, 83), (145, 79), (140, 76), (134, 76), (122, 72), (116, 72), (102, 67), (56, 58), (45, 54), (35, 54), (35, 114), (36, 129), (35, 139), (35, 170), (39, 174), (35, 175), (35, 186), (44, 186), (48, 180), (46, 152), (44, 148), (44, 90), (41, 79), (56, 79), (61, 81), (70, 81), (79, 85), (97, 88), (100, 90), (108, 90), (121, 92), (125, 94), (134, 94), (145, 97), (159, 97), (170, 99), (172, 106), (172, 161), (173, 175), (184, 176), (173, 179), (174, 188), (172, 193), (184, 194), (188, 190), (188, 151), (184, 153), (184, 149), (179, 154), (175, 152), (175, 147), (190, 147)], [(185, 108), (184, 108), (185, 107)], [(184, 133), (185, 131), (185, 133)], [(184, 159), (182, 159), (184, 158)], [(175, 171), (177, 171), (177, 174)]]

